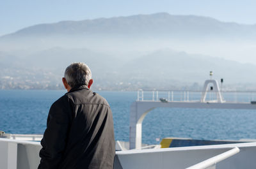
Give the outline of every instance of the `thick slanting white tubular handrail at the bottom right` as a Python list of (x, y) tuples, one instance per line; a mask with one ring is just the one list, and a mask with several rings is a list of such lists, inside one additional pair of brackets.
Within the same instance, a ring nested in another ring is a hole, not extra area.
[(214, 156), (213, 158), (206, 159), (205, 161), (202, 161), (201, 163), (190, 166), (186, 169), (206, 169), (206, 168), (213, 169), (213, 168), (216, 168), (216, 163), (219, 163), (220, 161), (223, 161), (224, 159), (234, 156), (239, 151), (240, 150), (237, 147), (235, 147), (234, 149), (231, 149), (230, 151), (223, 152), (222, 154), (220, 154), (218, 156)]

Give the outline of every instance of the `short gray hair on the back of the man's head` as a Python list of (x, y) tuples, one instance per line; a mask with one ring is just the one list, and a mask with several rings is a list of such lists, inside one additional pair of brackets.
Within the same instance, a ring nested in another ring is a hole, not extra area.
[(92, 79), (92, 72), (90, 68), (83, 62), (73, 62), (66, 70), (64, 77), (71, 88), (80, 85), (88, 85), (89, 80)]

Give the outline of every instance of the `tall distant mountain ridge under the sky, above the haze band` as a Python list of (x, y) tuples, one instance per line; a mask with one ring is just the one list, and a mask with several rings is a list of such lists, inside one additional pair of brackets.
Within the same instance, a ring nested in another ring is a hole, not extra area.
[(130, 17), (98, 18), (93, 20), (63, 21), (26, 27), (3, 38), (35, 36), (250, 36), (255, 37), (256, 26), (220, 22), (214, 18), (193, 15), (133, 15)]

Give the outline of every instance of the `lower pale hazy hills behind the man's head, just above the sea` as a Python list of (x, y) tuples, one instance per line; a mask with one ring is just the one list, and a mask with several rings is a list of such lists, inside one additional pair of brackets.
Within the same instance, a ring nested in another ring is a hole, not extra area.
[[(5, 62), (9, 66), (0, 68), (0, 82), (1, 77), (12, 77), (20, 82), (60, 85), (65, 68), (75, 61), (90, 66), (97, 89), (182, 89), (195, 82), (202, 85), (209, 78), (209, 71), (214, 72), (214, 78), (224, 78), (225, 84), (256, 83), (256, 78), (252, 78), (256, 77), (256, 66), (252, 64), (173, 50), (157, 50), (128, 62), (84, 48), (59, 47), (25, 59), (13, 58), (16, 59)], [(2, 80), (7, 82), (5, 78)]]

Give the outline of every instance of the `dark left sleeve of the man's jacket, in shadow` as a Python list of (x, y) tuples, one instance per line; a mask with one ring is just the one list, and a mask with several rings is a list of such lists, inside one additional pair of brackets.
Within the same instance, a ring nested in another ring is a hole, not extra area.
[(41, 140), (42, 149), (38, 169), (58, 168), (65, 151), (72, 108), (67, 96), (54, 102), (47, 117), (47, 128)]

